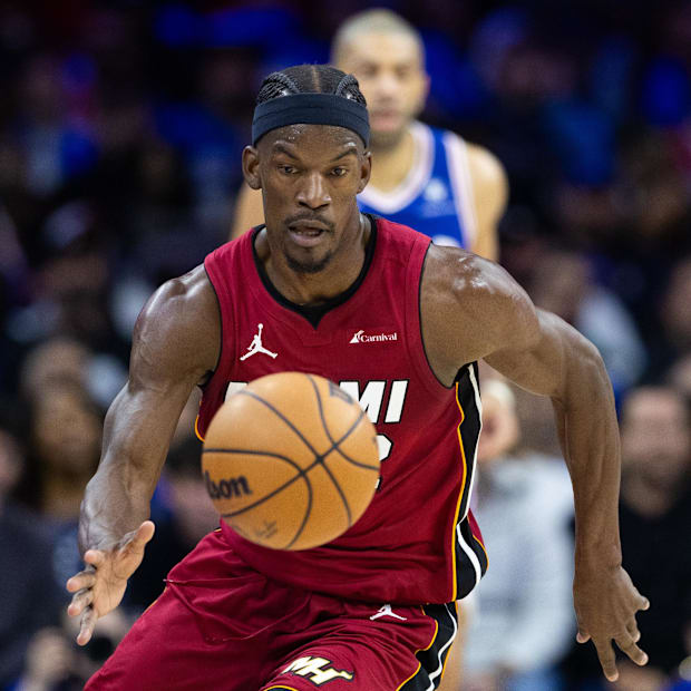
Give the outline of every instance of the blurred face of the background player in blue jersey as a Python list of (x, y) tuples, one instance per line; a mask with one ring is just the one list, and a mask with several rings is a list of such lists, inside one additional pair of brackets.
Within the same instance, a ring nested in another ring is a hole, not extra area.
[(376, 146), (399, 142), (425, 107), (429, 79), (422, 62), (420, 45), (405, 33), (363, 33), (341, 50), (338, 67), (358, 78)]

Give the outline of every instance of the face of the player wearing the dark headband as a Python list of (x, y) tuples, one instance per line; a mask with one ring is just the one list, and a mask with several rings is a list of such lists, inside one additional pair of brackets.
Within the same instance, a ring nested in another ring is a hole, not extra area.
[(243, 155), (245, 179), (262, 189), (273, 252), (299, 273), (322, 271), (360, 227), (356, 195), (370, 155), (349, 129), (292, 125), (266, 134)]

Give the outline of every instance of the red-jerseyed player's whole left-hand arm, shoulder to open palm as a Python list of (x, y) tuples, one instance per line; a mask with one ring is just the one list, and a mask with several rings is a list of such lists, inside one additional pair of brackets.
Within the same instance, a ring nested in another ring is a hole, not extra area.
[(81, 615), (77, 641), (115, 609), (154, 533), (149, 502), (181, 411), (216, 366), (220, 325), (203, 267), (169, 281), (135, 327), (129, 380), (106, 416), (104, 448), (81, 505), (79, 546), (87, 564), (67, 584), (68, 613)]

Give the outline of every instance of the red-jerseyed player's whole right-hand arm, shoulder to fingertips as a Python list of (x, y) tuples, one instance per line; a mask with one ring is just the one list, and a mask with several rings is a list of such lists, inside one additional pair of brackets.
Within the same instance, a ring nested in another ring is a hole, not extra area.
[(617, 674), (612, 640), (644, 664), (635, 613), (648, 601), (621, 566), (619, 428), (596, 348), (536, 310), (500, 266), (448, 247), (428, 252), (421, 311), (425, 347), (441, 381), (450, 385), (460, 366), (485, 358), (520, 387), (552, 398), (574, 488), (578, 640), (593, 640), (610, 680)]

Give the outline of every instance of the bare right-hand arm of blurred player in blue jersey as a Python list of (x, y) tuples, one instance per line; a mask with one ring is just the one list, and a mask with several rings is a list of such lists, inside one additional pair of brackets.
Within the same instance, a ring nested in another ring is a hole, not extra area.
[(468, 168), (477, 228), (470, 250), (485, 259), (499, 260), (497, 226), (508, 201), (508, 181), (499, 160), (487, 149), (468, 144)]

